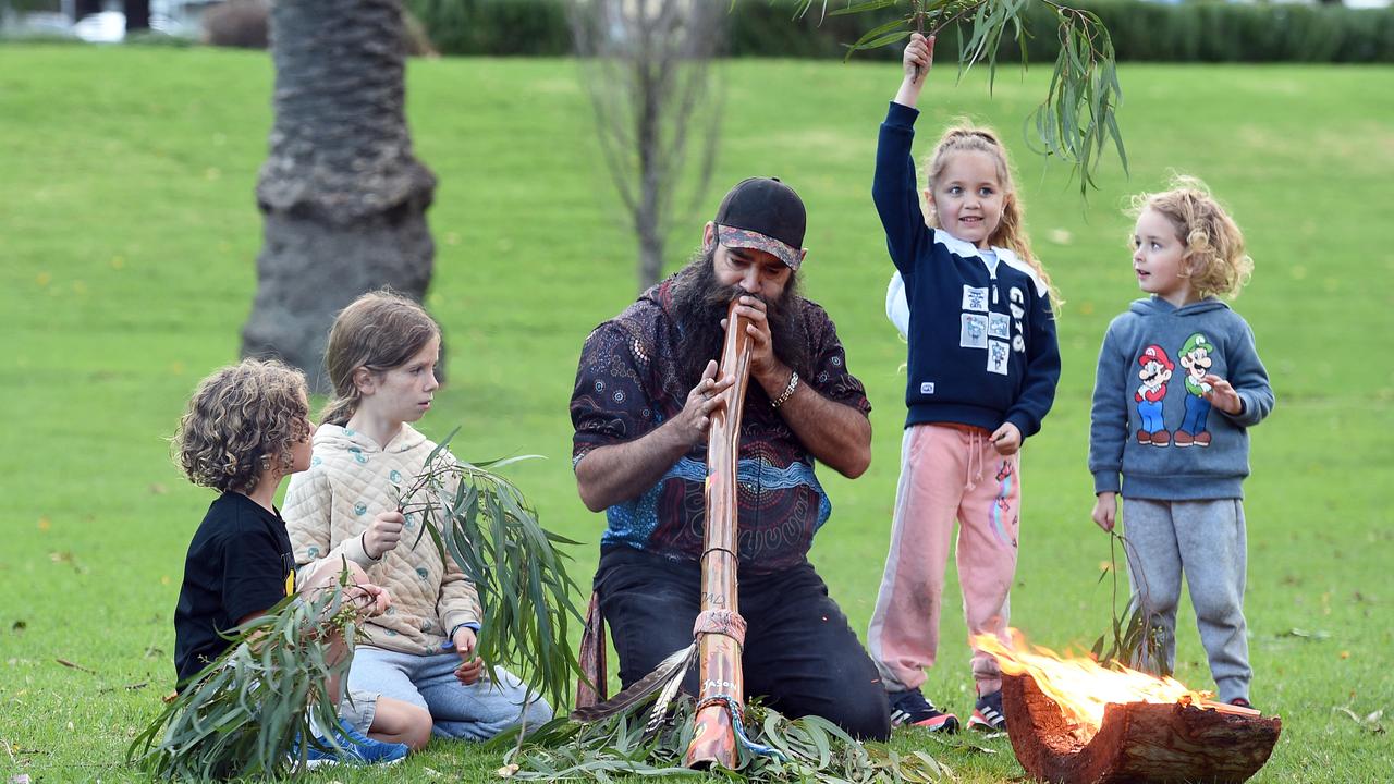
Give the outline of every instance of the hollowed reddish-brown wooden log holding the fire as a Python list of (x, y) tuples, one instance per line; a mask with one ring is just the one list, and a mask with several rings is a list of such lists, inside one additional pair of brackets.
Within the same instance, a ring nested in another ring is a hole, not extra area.
[(1022, 767), (1054, 784), (1239, 783), (1269, 762), (1282, 731), (1278, 717), (1135, 702), (1105, 707), (1098, 734), (1080, 745), (1029, 675), (1002, 675), (1002, 710)]

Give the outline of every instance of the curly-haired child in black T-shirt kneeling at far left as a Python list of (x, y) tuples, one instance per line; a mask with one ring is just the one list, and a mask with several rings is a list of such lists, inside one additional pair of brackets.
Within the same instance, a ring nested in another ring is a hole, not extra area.
[[(297, 590), (290, 536), (273, 499), (282, 478), (309, 467), (315, 425), (308, 414), (300, 371), (243, 360), (205, 378), (180, 420), (174, 435), (180, 469), (194, 484), (220, 492), (188, 545), (174, 608), (180, 689), (227, 650), (224, 633)], [(321, 589), (337, 575), (326, 566), (298, 590)], [(350, 575), (355, 585), (346, 597), (367, 615), (383, 612), (386, 591), (357, 566)], [(342, 639), (332, 646), (346, 650)], [(336, 756), (346, 762), (395, 762), (431, 739), (427, 711), (374, 693), (353, 693), (340, 704), (340, 716), (336, 732), (343, 751)], [(311, 757), (318, 756), (323, 755), (312, 749)]]

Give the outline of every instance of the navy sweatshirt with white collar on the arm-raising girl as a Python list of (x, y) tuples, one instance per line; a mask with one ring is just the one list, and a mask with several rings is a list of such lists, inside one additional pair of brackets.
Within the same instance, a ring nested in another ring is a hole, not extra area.
[(910, 304), (905, 425), (958, 423), (1034, 435), (1055, 400), (1059, 345), (1050, 292), (1008, 248), (984, 254), (931, 229), (920, 211), (910, 142), (919, 112), (891, 103), (871, 198)]

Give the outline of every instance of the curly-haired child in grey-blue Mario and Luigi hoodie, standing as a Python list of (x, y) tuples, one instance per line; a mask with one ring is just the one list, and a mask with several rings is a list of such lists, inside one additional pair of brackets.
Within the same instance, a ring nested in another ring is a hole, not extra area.
[(1133, 597), (1171, 672), (1185, 571), (1220, 699), (1249, 706), (1243, 490), (1249, 431), (1273, 409), (1253, 331), (1216, 299), (1234, 297), (1253, 261), (1243, 234), (1199, 181), (1133, 199), (1138, 285), (1150, 297), (1114, 318), (1094, 377), (1089, 470), (1093, 519), (1111, 532), (1124, 497)]

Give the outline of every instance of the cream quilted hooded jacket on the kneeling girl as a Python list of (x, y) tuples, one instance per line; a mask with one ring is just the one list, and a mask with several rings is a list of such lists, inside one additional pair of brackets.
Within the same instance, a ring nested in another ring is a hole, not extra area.
[(388, 589), (392, 607), (365, 625), (368, 643), (411, 654), (454, 650), (450, 631), (480, 622), (474, 585), (454, 559), (441, 558), (429, 536), (418, 541), (418, 515), (407, 515), (401, 541), (381, 559), (362, 548), (362, 533), (374, 516), (397, 505), (393, 485), (410, 485), (432, 449), (435, 444), (410, 424), (403, 424), (386, 446), (361, 432), (322, 424), (309, 470), (291, 477), (282, 509), (297, 564), (318, 568), (321, 561), (342, 555)]

